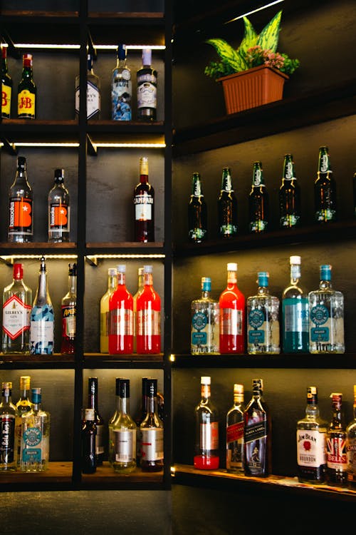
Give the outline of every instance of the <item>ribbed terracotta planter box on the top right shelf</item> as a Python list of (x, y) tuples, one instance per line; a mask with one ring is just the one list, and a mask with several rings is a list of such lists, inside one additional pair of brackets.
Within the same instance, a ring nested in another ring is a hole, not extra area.
[(276, 68), (264, 65), (248, 71), (218, 78), (224, 89), (227, 113), (236, 113), (262, 106), (268, 102), (280, 101), (283, 85), (288, 76)]

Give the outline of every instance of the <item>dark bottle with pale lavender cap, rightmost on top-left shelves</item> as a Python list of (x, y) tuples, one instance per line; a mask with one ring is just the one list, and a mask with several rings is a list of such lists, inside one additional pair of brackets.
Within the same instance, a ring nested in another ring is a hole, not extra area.
[(152, 50), (142, 50), (142, 67), (137, 71), (137, 118), (156, 121), (157, 71), (151, 66)]

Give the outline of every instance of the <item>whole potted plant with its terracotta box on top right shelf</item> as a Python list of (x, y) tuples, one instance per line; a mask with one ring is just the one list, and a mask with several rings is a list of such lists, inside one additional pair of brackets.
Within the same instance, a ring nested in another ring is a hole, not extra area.
[(204, 73), (223, 85), (227, 113), (261, 106), (281, 100), (288, 75), (299, 66), (298, 59), (290, 59), (277, 50), (282, 11), (271, 19), (261, 34), (256, 34), (244, 16), (244, 39), (234, 49), (224, 39), (208, 39), (221, 61), (211, 61)]

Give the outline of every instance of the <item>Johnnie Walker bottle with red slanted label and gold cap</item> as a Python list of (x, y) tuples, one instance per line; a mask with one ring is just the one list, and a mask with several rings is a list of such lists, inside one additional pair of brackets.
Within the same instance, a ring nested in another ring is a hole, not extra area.
[(234, 384), (234, 404), (226, 414), (226, 470), (244, 474), (244, 385)]

